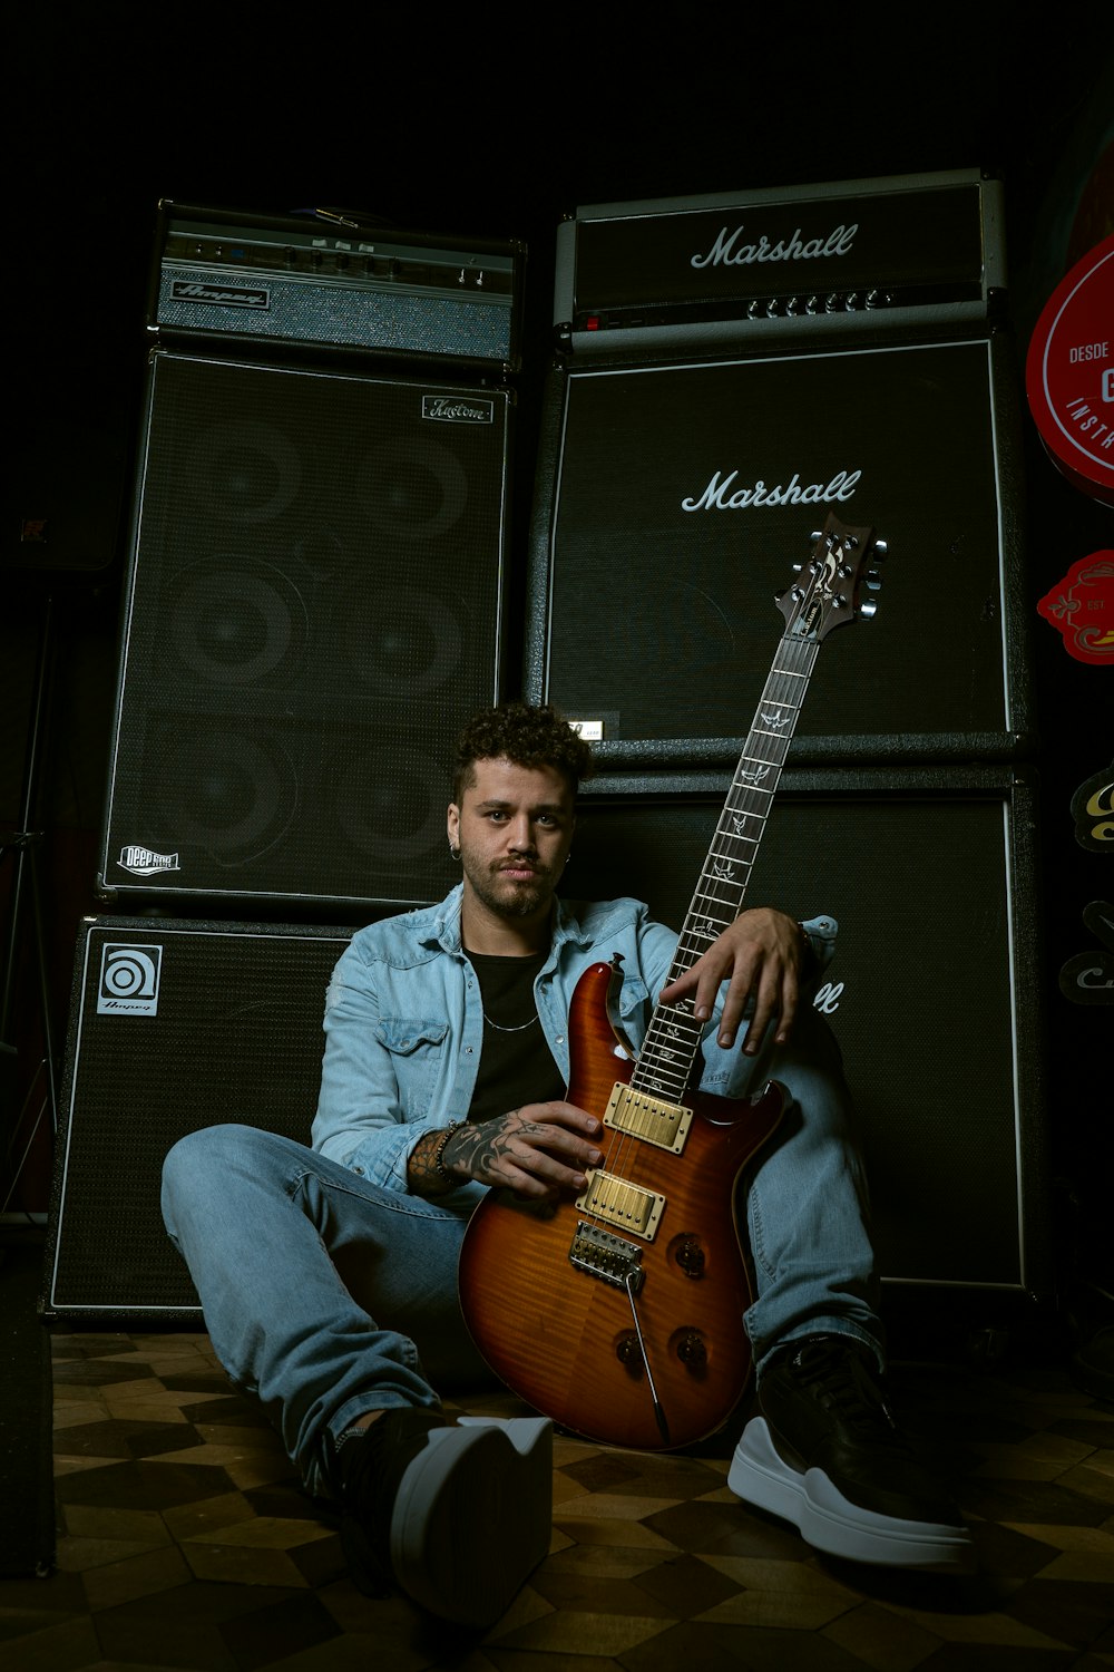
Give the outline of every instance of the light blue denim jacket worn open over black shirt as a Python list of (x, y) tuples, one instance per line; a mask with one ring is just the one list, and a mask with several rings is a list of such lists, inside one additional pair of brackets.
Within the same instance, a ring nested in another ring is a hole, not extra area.
[[(828, 963), (837, 925), (812, 918), (813, 973)], [(593, 963), (623, 958), (618, 1018), (635, 1052), (665, 986), (676, 933), (638, 900), (556, 901), (549, 956), (534, 981), (538, 1017), (568, 1078), (568, 1017), (576, 981)], [(762, 1058), (722, 1050), (717, 1018), (703, 1038), (701, 1087), (745, 1095)], [(359, 930), (326, 993), (326, 1050), (312, 1145), (372, 1184), (406, 1190), (406, 1162), (424, 1132), (466, 1120), (483, 1045), (479, 981), (461, 946), (459, 884), (436, 906)], [(760, 1080), (757, 1083), (762, 1083)], [(466, 1206), (483, 1185), (446, 1202)]]

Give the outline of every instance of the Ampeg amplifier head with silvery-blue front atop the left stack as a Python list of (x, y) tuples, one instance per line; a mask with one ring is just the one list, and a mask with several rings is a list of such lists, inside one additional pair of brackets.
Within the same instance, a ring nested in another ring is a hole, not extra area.
[(524, 246), (159, 204), (147, 329), (518, 371)]

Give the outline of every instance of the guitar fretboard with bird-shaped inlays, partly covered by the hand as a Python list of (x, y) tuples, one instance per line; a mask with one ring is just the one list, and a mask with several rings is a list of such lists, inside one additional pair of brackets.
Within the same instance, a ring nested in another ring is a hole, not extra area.
[[(742, 911), (818, 650), (815, 637), (795, 637), (792, 632), (782, 637), (685, 916), (670, 981), (691, 970)], [(631, 1075), (635, 1090), (680, 1100), (703, 1027), (693, 1017), (691, 1000), (656, 1005)]]

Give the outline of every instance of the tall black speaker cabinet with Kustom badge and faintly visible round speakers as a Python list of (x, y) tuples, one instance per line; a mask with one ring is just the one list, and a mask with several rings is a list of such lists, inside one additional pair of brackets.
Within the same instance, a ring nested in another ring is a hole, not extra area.
[(453, 741), (501, 679), (509, 435), (504, 388), (154, 351), (107, 903), (439, 898)]

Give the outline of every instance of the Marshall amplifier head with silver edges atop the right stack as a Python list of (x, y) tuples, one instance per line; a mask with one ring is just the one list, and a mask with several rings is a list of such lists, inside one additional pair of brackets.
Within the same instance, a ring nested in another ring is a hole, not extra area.
[(985, 321), (1005, 286), (999, 181), (977, 171), (588, 204), (558, 227), (573, 353)]

